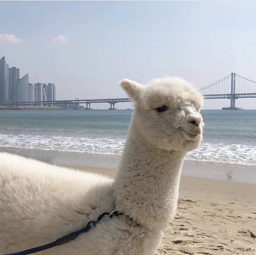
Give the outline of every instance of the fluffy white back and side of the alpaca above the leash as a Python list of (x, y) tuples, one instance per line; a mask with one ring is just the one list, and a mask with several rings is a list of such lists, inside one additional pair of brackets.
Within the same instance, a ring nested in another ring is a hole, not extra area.
[(0, 254), (56, 240), (113, 208), (112, 180), (0, 153)]

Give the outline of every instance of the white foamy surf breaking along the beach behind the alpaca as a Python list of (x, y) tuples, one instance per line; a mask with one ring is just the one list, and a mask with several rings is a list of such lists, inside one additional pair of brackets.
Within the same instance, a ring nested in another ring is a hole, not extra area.
[[(48, 135), (0, 134), (1, 147), (70, 151), (77, 153), (120, 155), (124, 139), (64, 137)], [(256, 165), (256, 147), (240, 144), (202, 143), (188, 153), (187, 159), (222, 162), (229, 164)]]

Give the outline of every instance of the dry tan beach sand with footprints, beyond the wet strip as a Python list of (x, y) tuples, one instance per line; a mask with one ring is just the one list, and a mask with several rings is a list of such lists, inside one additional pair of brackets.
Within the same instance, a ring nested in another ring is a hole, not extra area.
[[(80, 169), (115, 175), (111, 169)], [(256, 185), (183, 176), (162, 254), (256, 255)]]

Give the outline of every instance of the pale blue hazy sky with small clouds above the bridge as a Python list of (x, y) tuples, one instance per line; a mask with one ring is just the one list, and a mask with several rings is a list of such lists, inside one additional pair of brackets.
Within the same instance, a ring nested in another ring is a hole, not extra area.
[[(55, 83), (57, 100), (127, 97), (123, 78), (256, 81), (255, 10), (256, 1), (0, 1), (0, 58), (30, 83)], [(228, 106), (205, 100), (204, 109)], [(256, 98), (236, 106), (256, 109)]]

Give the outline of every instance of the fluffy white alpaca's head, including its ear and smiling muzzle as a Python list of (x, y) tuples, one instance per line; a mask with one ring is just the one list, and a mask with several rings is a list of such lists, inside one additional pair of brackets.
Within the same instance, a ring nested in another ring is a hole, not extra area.
[(122, 80), (121, 87), (135, 102), (134, 124), (152, 146), (190, 151), (202, 141), (203, 96), (179, 78), (152, 80), (146, 86)]

